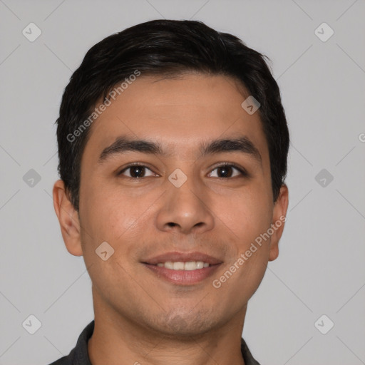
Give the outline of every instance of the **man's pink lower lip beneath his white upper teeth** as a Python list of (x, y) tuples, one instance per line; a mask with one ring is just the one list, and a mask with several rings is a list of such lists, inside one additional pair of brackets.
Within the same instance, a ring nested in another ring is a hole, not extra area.
[(178, 285), (197, 284), (198, 282), (207, 279), (207, 277), (210, 277), (220, 266), (220, 264), (215, 264), (195, 270), (172, 270), (153, 264), (145, 264), (144, 262), (143, 264), (145, 267), (148, 267), (148, 269), (157, 274), (158, 277), (162, 277), (168, 282)]

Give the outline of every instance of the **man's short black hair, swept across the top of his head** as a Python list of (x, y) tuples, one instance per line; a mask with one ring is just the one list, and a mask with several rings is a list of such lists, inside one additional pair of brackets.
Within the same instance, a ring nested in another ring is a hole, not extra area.
[[(89, 120), (100, 98), (138, 70), (142, 75), (174, 76), (185, 72), (231, 76), (259, 103), (269, 148), (274, 202), (287, 175), (289, 131), (279, 86), (262, 55), (232, 34), (201, 21), (153, 20), (112, 34), (88, 50), (63, 92), (57, 123), (58, 173), (78, 211), (81, 157)], [(269, 58), (267, 58), (269, 60)], [(78, 138), (75, 137), (75, 131)], [(73, 138), (70, 138), (70, 135)]]

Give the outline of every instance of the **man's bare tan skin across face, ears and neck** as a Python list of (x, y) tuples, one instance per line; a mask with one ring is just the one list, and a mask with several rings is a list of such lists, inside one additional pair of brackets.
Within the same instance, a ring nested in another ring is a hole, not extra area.
[[(83, 255), (93, 282), (93, 365), (244, 364), (240, 339), (247, 302), (267, 263), (278, 256), (284, 224), (219, 289), (212, 280), (288, 206), (286, 185), (273, 202), (267, 141), (259, 112), (249, 115), (241, 107), (247, 96), (227, 76), (142, 75), (91, 126), (81, 160), (79, 214), (63, 181), (54, 184), (66, 248)], [(103, 149), (120, 135), (158, 141), (171, 155), (128, 152), (99, 164)], [(201, 157), (197, 150), (202, 141), (237, 135), (250, 138), (262, 165), (247, 153)], [(147, 166), (145, 177), (128, 178), (133, 169), (118, 175), (135, 162)], [(232, 177), (220, 178), (223, 163), (235, 163), (250, 176), (232, 168)], [(181, 187), (168, 180), (177, 168), (187, 176)], [(115, 250), (107, 261), (95, 252), (103, 241)], [(141, 263), (170, 251), (200, 251), (222, 264), (213, 277), (181, 286)]]

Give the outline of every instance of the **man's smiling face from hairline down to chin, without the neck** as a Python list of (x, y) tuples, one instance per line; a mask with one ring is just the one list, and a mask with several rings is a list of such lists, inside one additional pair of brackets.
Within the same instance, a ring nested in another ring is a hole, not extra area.
[[(212, 283), (286, 210), (272, 202), (267, 141), (259, 112), (241, 106), (247, 96), (224, 76), (142, 75), (93, 123), (79, 217), (94, 306), (165, 334), (204, 333), (244, 317), (279, 237), (257, 246), (220, 287)], [(118, 138), (158, 144), (162, 153), (108, 148)], [(202, 153), (213, 140), (240, 138), (242, 148), (216, 143)], [(102, 242), (114, 250), (105, 261), (96, 254)], [(176, 252), (215, 262), (184, 271), (153, 265)]]

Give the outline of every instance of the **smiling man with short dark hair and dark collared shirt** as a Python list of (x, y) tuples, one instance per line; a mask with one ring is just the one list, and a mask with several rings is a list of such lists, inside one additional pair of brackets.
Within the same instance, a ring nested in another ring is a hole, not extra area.
[(53, 364), (259, 364), (241, 336), (278, 256), (289, 147), (264, 56), (148, 21), (86, 53), (57, 124), (54, 207), (95, 319)]

